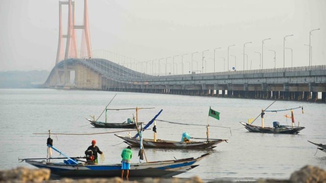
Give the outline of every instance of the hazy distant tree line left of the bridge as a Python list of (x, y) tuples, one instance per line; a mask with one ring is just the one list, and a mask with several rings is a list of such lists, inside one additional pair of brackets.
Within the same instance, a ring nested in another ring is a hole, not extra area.
[(40, 88), (49, 73), (48, 70), (0, 71), (0, 88)]

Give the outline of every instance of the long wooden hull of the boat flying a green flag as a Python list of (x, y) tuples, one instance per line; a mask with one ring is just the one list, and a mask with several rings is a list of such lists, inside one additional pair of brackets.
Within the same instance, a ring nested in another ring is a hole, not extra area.
[[(138, 147), (140, 140), (139, 138), (130, 138), (124, 137), (115, 134), (115, 136), (125, 140), (130, 146)], [(169, 149), (209, 149), (214, 148), (225, 139), (218, 139), (218, 140), (208, 140), (208, 141), (190, 141), (190, 142), (181, 142), (181, 141), (169, 141), (169, 140), (160, 140), (157, 139), (156, 142), (153, 139), (143, 138), (143, 146), (150, 147), (150, 148), (169, 148)]]

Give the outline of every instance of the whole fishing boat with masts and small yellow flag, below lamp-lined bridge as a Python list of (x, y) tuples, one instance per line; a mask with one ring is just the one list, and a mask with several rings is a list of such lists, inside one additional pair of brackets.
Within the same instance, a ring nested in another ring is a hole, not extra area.
[[(274, 101), (276, 102), (276, 101)], [(274, 102), (272, 104), (274, 104)], [(271, 104), (271, 105), (272, 105)], [(270, 106), (271, 106), (270, 105)], [(248, 123), (246, 122), (240, 122), (249, 132), (257, 132), (257, 133), (268, 133), (268, 134), (299, 134), (301, 130), (304, 129), (304, 127), (294, 126), (294, 115), (293, 115), (293, 110), (294, 109), (302, 109), (302, 114), (303, 114), (303, 107), (297, 107), (297, 108), (292, 108), (292, 109), (284, 109), (284, 110), (271, 110), (267, 111), (267, 109), (270, 107), (268, 106), (265, 110), (261, 110), (261, 114), (259, 114), (253, 121), (255, 121), (259, 116), (261, 116), (261, 126), (254, 126), (252, 125), (252, 122), (248, 120)], [(265, 127), (264, 126), (264, 115), (265, 112), (279, 112), (279, 111), (291, 111), (291, 117), (288, 116), (287, 114), (285, 117), (290, 117), (292, 119), (292, 126), (287, 126), (287, 125), (279, 125), (279, 122), (274, 121), (273, 122), (273, 127)]]

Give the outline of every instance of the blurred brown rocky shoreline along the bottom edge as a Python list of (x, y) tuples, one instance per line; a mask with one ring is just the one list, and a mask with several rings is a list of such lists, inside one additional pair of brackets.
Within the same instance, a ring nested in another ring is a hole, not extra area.
[[(133, 183), (203, 183), (200, 177), (192, 177), (190, 179), (179, 178), (144, 178), (141, 180), (130, 180)], [(26, 167), (18, 167), (11, 170), (0, 171), (0, 183), (129, 183), (130, 181), (122, 180), (120, 177), (115, 178), (97, 178), (97, 179), (70, 179), (59, 178), (51, 179), (49, 169), (29, 169)], [(233, 183), (230, 180), (214, 180), (208, 183)], [(306, 165), (299, 171), (291, 174), (289, 180), (256, 180), (256, 181), (235, 181), (246, 183), (326, 183), (326, 171), (317, 167)]]

